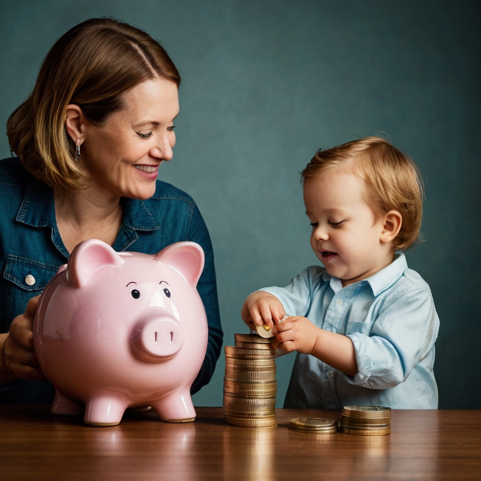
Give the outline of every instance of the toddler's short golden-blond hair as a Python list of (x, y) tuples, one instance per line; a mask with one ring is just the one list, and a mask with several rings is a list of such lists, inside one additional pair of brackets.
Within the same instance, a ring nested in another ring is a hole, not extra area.
[(364, 179), (366, 201), (374, 211), (397, 210), (401, 214), (401, 230), (393, 240), (394, 247), (404, 251), (419, 242), (424, 188), (412, 159), (381, 137), (366, 137), (319, 149), (302, 171), (302, 179), (343, 165)]

